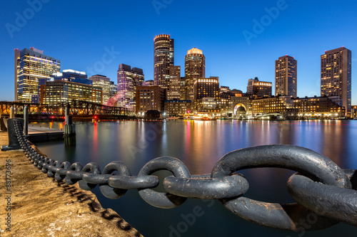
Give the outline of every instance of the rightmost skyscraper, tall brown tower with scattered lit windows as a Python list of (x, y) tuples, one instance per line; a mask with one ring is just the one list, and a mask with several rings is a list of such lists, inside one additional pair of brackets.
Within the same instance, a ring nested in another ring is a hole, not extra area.
[(347, 48), (336, 48), (321, 55), (321, 96), (338, 96), (338, 105), (351, 115), (351, 61)]

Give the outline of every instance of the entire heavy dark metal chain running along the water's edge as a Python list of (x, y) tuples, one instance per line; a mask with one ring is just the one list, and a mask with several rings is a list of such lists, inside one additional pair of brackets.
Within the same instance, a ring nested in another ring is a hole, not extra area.
[[(98, 164), (70, 164), (45, 157), (31, 147), (22, 132), (21, 122), (15, 122), (16, 136), (26, 157), (48, 177), (66, 184), (79, 183), (81, 189), (91, 190), (99, 185), (109, 199), (118, 199), (128, 189), (138, 189), (144, 201), (152, 206), (171, 209), (187, 198), (217, 199), (229, 211), (259, 225), (298, 231), (298, 220), (313, 218), (310, 231), (328, 228), (339, 221), (357, 226), (357, 172), (343, 171), (322, 154), (292, 145), (266, 145), (238, 149), (224, 155), (211, 174), (191, 175), (183, 162), (174, 157), (151, 160), (131, 176), (123, 162), (111, 162), (103, 171)], [(241, 169), (280, 167), (298, 173), (288, 179), (288, 191), (296, 204), (271, 204), (248, 199), (248, 180)], [(163, 181), (166, 193), (154, 191), (159, 178), (152, 175), (169, 170), (174, 176)], [(118, 172), (118, 174), (114, 174)]]

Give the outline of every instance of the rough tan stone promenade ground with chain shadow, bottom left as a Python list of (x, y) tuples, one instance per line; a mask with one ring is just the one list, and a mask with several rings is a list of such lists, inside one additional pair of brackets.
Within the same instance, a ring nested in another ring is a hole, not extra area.
[[(8, 144), (7, 132), (0, 132), (0, 144)], [(11, 170), (11, 187), (6, 187), (6, 170)], [(1, 237), (141, 236), (115, 211), (104, 209), (91, 191), (48, 178), (21, 150), (0, 152), (0, 177)]]

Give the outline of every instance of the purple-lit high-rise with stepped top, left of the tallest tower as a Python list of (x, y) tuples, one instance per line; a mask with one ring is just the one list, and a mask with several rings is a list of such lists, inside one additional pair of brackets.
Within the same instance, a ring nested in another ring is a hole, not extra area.
[(143, 85), (144, 73), (140, 68), (120, 64), (118, 70), (118, 106), (125, 107), (135, 102), (136, 87)]

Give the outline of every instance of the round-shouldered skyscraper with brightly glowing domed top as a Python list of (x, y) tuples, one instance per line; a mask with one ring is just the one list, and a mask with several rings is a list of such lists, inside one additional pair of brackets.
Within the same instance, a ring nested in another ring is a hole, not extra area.
[(186, 100), (194, 99), (194, 85), (193, 83), (198, 78), (205, 78), (206, 72), (206, 58), (202, 51), (198, 48), (192, 48), (187, 51), (185, 56), (185, 90)]

